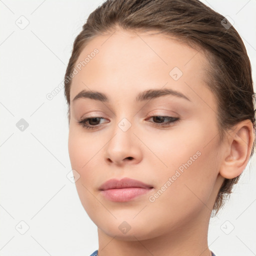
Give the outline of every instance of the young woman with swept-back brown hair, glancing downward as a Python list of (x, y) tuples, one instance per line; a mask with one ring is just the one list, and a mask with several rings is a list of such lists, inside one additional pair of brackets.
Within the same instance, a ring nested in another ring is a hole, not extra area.
[(252, 156), (250, 61), (198, 0), (107, 0), (65, 73), (68, 150), (91, 255), (214, 255), (209, 218)]

